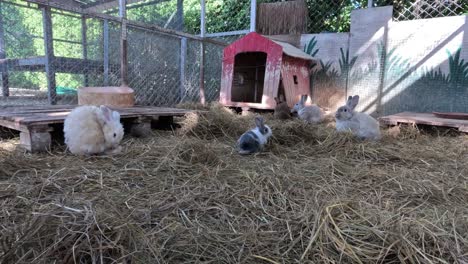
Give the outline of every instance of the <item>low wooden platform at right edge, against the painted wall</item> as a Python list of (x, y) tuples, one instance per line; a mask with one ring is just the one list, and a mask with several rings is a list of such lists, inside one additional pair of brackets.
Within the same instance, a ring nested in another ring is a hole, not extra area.
[(461, 132), (468, 132), (468, 120), (441, 118), (435, 116), (432, 113), (403, 112), (380, 117), (379, 121), (381, 124), (384, 125), (398, 125), (400, 123), (420, 124), (430, 126), (453, 127), (458, 128), (458, 130)]

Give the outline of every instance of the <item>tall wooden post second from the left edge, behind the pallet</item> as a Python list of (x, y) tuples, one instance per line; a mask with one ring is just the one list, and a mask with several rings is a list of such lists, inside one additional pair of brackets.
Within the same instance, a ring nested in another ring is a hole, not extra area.
[(47, 98), (49, 104), (57, 104), (57, 90), (55, 82), (55, 56), (52, 33), (52, 15), (50, 7), (42, 6), (42, 24), (44, 27), (45, 70), (47, 76)]

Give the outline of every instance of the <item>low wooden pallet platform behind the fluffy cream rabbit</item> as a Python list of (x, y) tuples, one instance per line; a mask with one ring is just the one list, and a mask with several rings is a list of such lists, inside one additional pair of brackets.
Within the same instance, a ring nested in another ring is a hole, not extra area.
[[(1, 107), (0, 126), (20, 131), (20, 144), (31, 152), (42, 152), (50, 149), (51, 132), (54, 125), (63, 124), (70, 111), (76, 106), (35, 106), (35, 107)], [(135, 136), (144, 136), (151, 130), (151, 122), (160, 120), (172, 122), (174, 116), (184, 116), (190, 110), (142, 107), (110, 107), (120, 113), (123, 122), (131, 124)]]

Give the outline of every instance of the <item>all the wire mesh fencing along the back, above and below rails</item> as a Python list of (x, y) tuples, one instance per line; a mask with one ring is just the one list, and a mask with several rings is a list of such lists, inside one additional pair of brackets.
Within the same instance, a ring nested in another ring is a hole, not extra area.
[[(198, 0), (143, 1), (127, 6), (129, 20), (168, 30), (200, 33)], [(192, 2), (193, 3), (192, 3)], [(207, 36), (232, 43), (248, 32), (250, 1), (207, 1)], [(258, 1), (277, 2), (277, 1)], [(181, 3), (184, 3), (182, 8)], [(351, 11), (367, 8), (367, 0), (306, 0), (307, 32), (349, 32)], [(464, 0), (375, 0), (372, 6), (393, 5), (394, 20), (462, 15)], [(2, 104), (76, 104), (76, 90), (84, 86), (120, 85), (120, 23), (60, 9), (50, 10), (52, 45), (44, 32), (45, 9), (24, 1), (0, 2), (4, 35), (3, 71), (8, 68), (9, 97)], [(105, 13), (117, 16), (117, 10)], [(238, 31), (232, 34), (213, 33)], [(202, 42), (150, 28), (128, 26), (129, 86), (143, 105), (172, 106), (200, 100)], [(219, 95), (224, 45), (204, 44), (204, 84), (207, 101)], [(49, 56), (47, 56), (49, 55)], [(46, 60), (52, 70), (47, 71)], [(6, 60), (5, 60), (6, 59)], [(7, 61), (7, 62), (6, 62)], [(49, 72), (49, 76), (47, 74)], [(55, 76), (51, 80), (50, 72)], [(5, 78), (4, 78), (5, 79)], [(50, 93), (51, 82), (56, 93)], [(5, 82), (4, 82), (5, 83)]]

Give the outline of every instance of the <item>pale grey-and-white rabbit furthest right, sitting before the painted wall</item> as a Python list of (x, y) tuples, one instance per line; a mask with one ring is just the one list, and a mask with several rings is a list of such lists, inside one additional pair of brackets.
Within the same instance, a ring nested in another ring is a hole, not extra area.
[(379, 140), (379, 122), (366, 113), (354, 111), (359, 102), (359, 95), (349, 96), (346, 105), (341, 106), (335, 113), (336, 130), (338, 132), (351, 131), (361, 139)]

